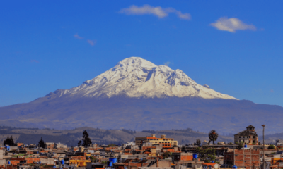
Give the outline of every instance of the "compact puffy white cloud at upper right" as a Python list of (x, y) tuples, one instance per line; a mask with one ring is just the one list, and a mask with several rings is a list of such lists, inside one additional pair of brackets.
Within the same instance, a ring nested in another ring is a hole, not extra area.
[(211, 23), (210, 25), (216, 27), (217, 30), (224, 30), (229, 32), (236, 32), (236, 30), (256, 30), (256, 27), (254, 25), (243, 23), (238, 18), (222, 17), (219, 18), (219, 20), (216, 20), (215, 23)]

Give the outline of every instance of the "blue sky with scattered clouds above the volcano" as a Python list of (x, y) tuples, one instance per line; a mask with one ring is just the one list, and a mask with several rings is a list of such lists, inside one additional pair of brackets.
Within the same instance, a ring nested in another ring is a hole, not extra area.
[(283, 106), (283, 1), (3, 1), (0, 106), (76, 87), (139, 56)]

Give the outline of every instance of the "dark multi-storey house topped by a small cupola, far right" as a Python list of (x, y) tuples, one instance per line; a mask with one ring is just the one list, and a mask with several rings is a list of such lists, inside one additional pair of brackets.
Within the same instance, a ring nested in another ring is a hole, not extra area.
[(255, 132), (255, 127), (249, 125), (243, 132), (238, 132), (234, 135), (234, 142), (248, 145), (258, 145), (258, 134)]

